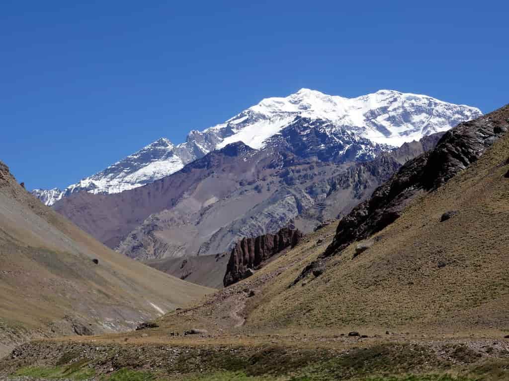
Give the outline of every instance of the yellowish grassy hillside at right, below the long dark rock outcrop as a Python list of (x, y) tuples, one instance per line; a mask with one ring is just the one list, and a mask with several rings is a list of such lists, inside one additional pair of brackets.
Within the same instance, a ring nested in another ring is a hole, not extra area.
[[(505, 135), (443, 187), (414, 200), (357, 257), (354, 243), (322, 275), (293, 287), (302, 267), (285, 272), (263, 289), (247, 326), (501, 335), (509, 329), (508, 159)], [(441, 222), (447, 211), (457, 214)], [(309, 259), (319, 253), (310, 251)]]

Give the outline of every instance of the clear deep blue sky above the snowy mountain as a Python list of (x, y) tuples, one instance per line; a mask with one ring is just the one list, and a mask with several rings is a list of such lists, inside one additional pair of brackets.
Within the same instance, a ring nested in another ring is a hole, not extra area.
[(301, 87), (489, 112), (509, 102), (508, 14), (502, 1), (4, 0), (0, 160), (29, 188), (65, 187)]

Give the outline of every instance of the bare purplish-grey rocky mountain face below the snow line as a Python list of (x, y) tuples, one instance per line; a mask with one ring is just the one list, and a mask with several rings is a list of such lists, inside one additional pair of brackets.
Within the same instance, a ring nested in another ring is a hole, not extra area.
[[(441, 134), (382, 152), (369, 162), (320, 161), (317, 156), (327, 158), (323, 152), (331, 150), (326, 145), (308, 157), (307, 151), (292, 153), (300, 150), (285, 139), (271, 140), (262, 150), (238, 142), (143, 187), (112, 195), (82, 192), (54, 208), (132, 258), (215, 255), (243, 237), (275, 233), (290, 223), (308, 232), (348, 213), (409, 158), (434, 146)], [(340, 152), (344, 146), (337, 143), (336, 148)], [(342, 156), (330, 159), (335, 157)]]

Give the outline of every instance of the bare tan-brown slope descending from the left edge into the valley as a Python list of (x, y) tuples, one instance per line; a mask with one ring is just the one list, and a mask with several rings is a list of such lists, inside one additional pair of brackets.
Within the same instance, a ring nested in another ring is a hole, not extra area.
[(103, 246), (27, 193), (2, 163), (0, 262), (0, 353), (30, 337), (132, 328), (210, 290)]

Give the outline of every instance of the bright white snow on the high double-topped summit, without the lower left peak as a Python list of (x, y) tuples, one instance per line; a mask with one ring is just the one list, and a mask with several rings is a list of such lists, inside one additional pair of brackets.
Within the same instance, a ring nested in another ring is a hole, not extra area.
[[(302, 88), (286, 98), (264, 99), (209, 130), (221, 131), (229, 126), (234, 132), (218, 147), (242, 141), (259, 149), (267, 138), (277, 134), (296, 116), (301, 116), (331, 121), (375, 143), (400, 146), (446, 131), (480, 115), (482, 113), (475, 107), (453, 105), (432, 97), (394, 90), (343, 98)], [(246, 123), (249, 119), (251, 122)]]

